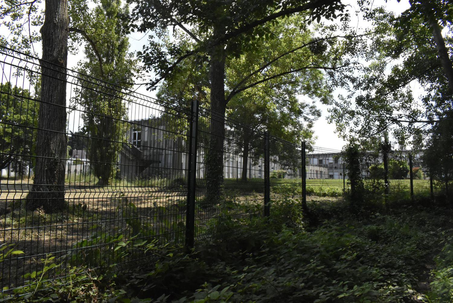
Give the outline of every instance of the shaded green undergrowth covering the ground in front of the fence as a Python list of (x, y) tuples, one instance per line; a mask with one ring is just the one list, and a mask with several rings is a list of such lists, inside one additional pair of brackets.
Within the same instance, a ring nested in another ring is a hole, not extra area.
[[(314, 215), (318, 221), (311, 225), (300, 216), (270, 219), (227, 238), (213, 237), (190, 253), (141, 241), (139, 248), (157, 257), (149, 266), (121, 273), (74, 267), (64, 281), (16, 289), (3, 300), (453, 302), (450, 209)], [(138, 244), (116, 245), (127, 253)]]

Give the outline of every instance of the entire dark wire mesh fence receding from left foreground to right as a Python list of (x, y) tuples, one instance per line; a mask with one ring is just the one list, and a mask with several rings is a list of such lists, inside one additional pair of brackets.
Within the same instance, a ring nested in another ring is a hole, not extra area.
[[(127, 241), (193, 244), (283, 215), (290, 202), (331, 207), (350, 190), (341, 151), (252, 130), (195, 102), (180, 108), (43, 67), (7, 48), (0, 55), (0, 240), (24, 252), (1, 262), (3, 291), (37, 283), (49, 254), (58, 265), (48, 279), (72, 266), (130, 268), (153, 256)], [(47, 78), (63, 83), (65, 105), (41, 98)], [(41, 127), (43, 109), (48, 118), (64, 110), (63, 126)], [(63, 152), (52, 158), (42, 149), (53, 144)], [(419, 155), (412, 162), (413, 192), (429, 192)], [(384, 180), (381, 164), (379, 155), (365, 159), (363, 177)], [(46, 174), (58, 175), (51, 189), (43, 189)], [(407, 192), (405, 178), (408, 171), (389, 176), (390, 191)]]

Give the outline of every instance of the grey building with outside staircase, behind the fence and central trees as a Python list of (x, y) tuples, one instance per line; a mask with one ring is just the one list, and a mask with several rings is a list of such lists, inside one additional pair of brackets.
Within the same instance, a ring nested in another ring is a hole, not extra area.
[[(131, 127), (122, 144), (118, 166), (121, 178), (184, 178), (188, 171), (186, 136), (168, 129), (162, 118), (130, 121)], [(233, 138), (230, 138), (234, 142)], [(200, 144), (200, 143), (199, 143)], [(224, 178), (241, 178), (242, 156), (235, 144), (226, 144), (223, 157)], [(205, 150), (198, 148), (197, 178), (204, 178)], [(278, 170), (272, 161), (270, 171)], [(249, 155), (247, 178), (264, 178), (264, 161)], [(286, 178), (291, 175), (291, 170)]]

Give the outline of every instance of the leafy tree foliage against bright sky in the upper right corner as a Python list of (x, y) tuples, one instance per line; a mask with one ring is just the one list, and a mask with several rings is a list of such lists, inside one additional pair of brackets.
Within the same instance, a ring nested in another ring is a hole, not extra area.
[[(395, 140), (423, 148), (431, 126), (452, 108), (453, 91), (430, 25), (434, 18), (444, 29), (444, 47), (451, 54), (452, 3), (414, 0), (400, 15), (372, 3), (359, 1), (364, 19), (372, 23), (369, 47), (357, 53), (368, 64), (345, 86), (348, 93), (334, 100), (330, 118), (345, 137), (350, 133), (367, 141), (390, 129)], [(423, 87), (419, 100), (414, 85)]]

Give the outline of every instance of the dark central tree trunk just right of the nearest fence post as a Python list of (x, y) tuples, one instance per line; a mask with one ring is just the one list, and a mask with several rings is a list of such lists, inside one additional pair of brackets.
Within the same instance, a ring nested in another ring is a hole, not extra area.
[(223, 45), (211, 54), (211, 119), (209, 144), (206, 153), (206, 202), (217, 204), (222, 196), (223, 145), (225, 138), (225, 55)]

